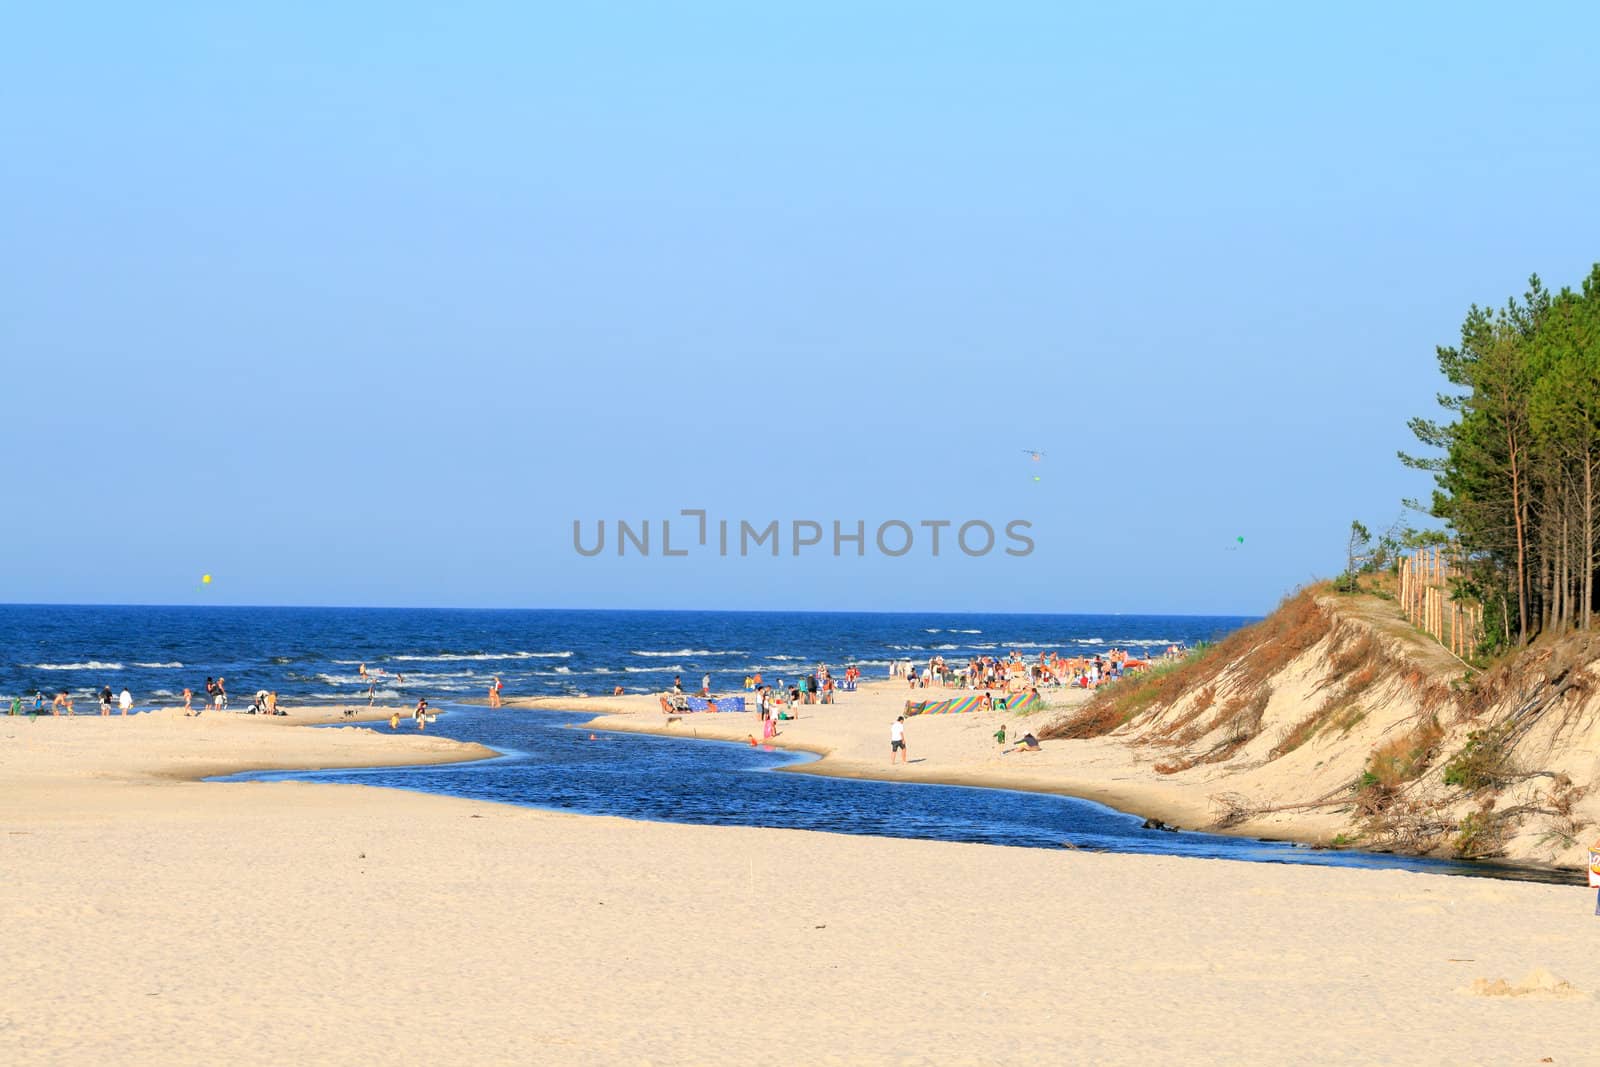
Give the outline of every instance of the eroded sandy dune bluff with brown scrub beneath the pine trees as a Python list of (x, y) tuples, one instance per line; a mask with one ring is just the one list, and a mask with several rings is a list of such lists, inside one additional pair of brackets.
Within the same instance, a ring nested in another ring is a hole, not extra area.
[(1474, 672), (1378, 597), (1312, 589), (1046, 736), (1110, 734), (1219, 827), (1582, 865), (1600, 824), (1600, 640)]

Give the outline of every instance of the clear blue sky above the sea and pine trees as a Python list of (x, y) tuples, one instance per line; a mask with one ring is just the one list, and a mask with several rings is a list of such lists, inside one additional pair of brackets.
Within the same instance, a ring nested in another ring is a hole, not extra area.
[(1590, 3), (450, 6), (8, 10), (0, 600), (1261, 613), (1600, 259)]

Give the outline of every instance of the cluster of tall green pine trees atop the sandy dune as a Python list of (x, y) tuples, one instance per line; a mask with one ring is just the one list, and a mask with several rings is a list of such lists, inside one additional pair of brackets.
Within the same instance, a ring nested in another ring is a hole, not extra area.
[[(1485, 608), (1478, 656), (1555, 625), (1592, 625), (1600, 573), (1600, 264), (1579, 291), (1530, 278), (1522, 301), (1472, 306), (1437, 350), (1448, 418), (1411, 419), (1434, 475), (1422, 509), (1466, 550), (1456, 590)], [(1419, 537), (1413, 531), (1411, 537)], [(1445, 536), (1443, 531), (1437, 531)]]

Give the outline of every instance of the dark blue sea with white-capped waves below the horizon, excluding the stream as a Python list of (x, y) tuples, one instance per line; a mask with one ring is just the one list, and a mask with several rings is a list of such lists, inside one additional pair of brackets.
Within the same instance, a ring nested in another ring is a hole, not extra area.
[[(1221, 637), (1253, 619), (1144, 614), (875, 614), (792, 611), (472, 611), (402, 608), (0, 606), (0, 694), (88, 699), (128, 688), (138, 705), (203, 693), (227, 678), (235, 704), (274, 689), (286, 704), (483, 696), (739, 689), (757, 670), (856, 664), (885, 677), (891, 659), (1019, 649), (1162, 649)], [(381, 672), (381, 673), (378, 673)]]

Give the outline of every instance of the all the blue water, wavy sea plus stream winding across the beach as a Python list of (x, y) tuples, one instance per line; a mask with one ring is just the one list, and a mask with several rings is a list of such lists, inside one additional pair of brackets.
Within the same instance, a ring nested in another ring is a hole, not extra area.
[[(245, 779), (362, 782), (533, 808), (661, 822), (760, 825), (1021, 848), (1149, 853), (1254, 862), (1397, 867), (1571, 881), (1563, 872), (1429, 857), (1312, 849), (1146, 829), (1142, 819), (1074, 797), (1003, 789), (795, 774), (806, 753), (648, 734), (590, 731), (581, 713), (461, 704), (498, 675), (509, 696), (659, 691), (674, 675), (738, 689), (749, 673), (797, 677), (818, 662), (886, 677), (894, 659), (1018, 649), (1106, 653), (1218, 640), (1240, 616), (877, 614), (746, 611), (477, 611), (373, 608), (0, 606), (0, 694), (67, 689), (91, 701), (128, 688), (138, 709), (226, 677), (242, 697), (286, 704), (365, 701), (365, 664), (381, 701), (426, 696), (430, 733), (485, 744), (477, 763), (338, 771), (253, 771)], [(382, 672), (378, 675), (376, 672)], [(29, 701), (30, 704), (30, 701)], [(242, 707), (235, 702), (235, 707)], [(80, 712), (90, 710), (80, 707)], [(338, 726), (334, 726), (338, 728)], [(379, 725), (386, 729), (386, 725)]]

